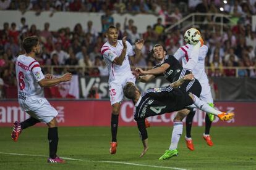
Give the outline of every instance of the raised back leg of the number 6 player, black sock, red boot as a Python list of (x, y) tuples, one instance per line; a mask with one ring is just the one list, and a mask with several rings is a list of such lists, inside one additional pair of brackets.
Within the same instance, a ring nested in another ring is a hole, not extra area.
[(17, 142), (22, 130), (26, 129), (27, 127), (33, 126), (36, 123), (40, 123), (40, 121), (33, 117), (26, 119), (22, 123), (19, 123), (19, 121), (15, 121), (14, 125), (12, 126), (12, 140), (14, 140), (14, 142)]

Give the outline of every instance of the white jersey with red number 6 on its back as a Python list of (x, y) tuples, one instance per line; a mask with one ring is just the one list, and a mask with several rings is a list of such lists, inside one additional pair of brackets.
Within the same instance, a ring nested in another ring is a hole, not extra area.
[(32, 57), (19, 55), (15, 63), (19, 103), (27, 97), (44, 97), (43, 88), (38, 84), (44, 79), (39, 63)]

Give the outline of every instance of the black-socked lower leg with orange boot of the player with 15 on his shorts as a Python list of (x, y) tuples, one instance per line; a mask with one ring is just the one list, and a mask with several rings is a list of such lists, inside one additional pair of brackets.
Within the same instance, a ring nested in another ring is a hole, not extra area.
[(112, 141), (110, 143), (109, 152), (111, 154), (116, 153), (116, 147), (117, 147), (117, 127), (118, 127), (118, 117), (119, 117), (119, 110), (120, 110), (121, 104), (120, 103), (114, 103), (112, 105), (112, 115), (111, 115), (111, 135), (112, 135)]

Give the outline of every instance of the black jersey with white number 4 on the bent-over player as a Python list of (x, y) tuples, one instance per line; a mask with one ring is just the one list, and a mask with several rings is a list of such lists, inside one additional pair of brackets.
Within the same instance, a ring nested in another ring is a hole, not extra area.
[(181, 89), (166, 86), (148, 89), (135, 104), (134, 119), (163, 115), (192, 105), (193, 100)]

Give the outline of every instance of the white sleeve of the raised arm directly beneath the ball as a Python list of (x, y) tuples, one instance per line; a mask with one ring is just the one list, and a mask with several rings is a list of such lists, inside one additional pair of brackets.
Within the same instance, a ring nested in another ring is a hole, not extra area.
[(189, 56), (189, 61), (186, 63), (186, 65), (183, 65), (183, 68), (186, 68), (190, 71), (192, 71), (195, 68), (195, 65), (197, 65), (198, 61), (198, 55), (199, 55), (199, 48), (200, 48), (200, 41), (193, 47), (192, 52)]

